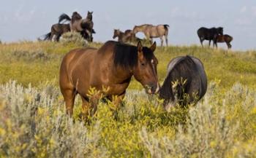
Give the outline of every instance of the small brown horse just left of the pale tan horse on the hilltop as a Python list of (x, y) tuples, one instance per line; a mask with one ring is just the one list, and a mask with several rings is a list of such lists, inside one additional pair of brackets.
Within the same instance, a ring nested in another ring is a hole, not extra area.
[[(118, 42), (133, 42), (137, 41), (135, 33), (132, 33), (132, 30), (126, 30), (124, 32), (120, 31), (119, 29), (114, 29), (113, 39), (118, 38)], [(138, 41), (137, 41), (138, 42)]]

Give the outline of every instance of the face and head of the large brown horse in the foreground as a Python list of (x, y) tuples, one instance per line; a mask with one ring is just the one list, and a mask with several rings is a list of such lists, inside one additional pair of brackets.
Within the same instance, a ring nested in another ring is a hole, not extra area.
[(138, 64), (133, 68), (135, 79), (137, 79), (138, 82), (146, 88), (146, 92), (150, 94), (154, 94), (159, 90), (157, 77), (158, 60), (153, 53), (156, 47), (156, 42), (149, 48), (143, 47), (141, 42), (138, 42)]

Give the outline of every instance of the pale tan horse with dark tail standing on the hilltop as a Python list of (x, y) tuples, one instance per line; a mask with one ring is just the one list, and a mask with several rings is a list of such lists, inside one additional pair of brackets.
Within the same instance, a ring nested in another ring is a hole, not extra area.
[(168, 45), (168, 27), (169, 25), (135, 25), (133, 28), (133, 33), (143, 32), (146, 36), (146, 39), (151, 40), (153, 43), (153, 38), (159, 37), (161, 40), (161, 46), (163, 44), (163, 36), (165, 36), (166, 46)]

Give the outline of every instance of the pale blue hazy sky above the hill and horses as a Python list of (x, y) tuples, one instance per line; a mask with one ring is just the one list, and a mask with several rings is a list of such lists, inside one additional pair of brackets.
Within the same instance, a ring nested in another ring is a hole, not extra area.
[(94, 11), (97, 42), (112, 39), (113, 28), (124, 31), (151, 23), (170, 25), (170, 44), (199, 44), (198, 28), (223, 26), (224, 33), (234, 38), (234, 50), (256, 49), (256, 0), (1, 0), (0, 39), (35, 40), (50, 31), (61, 13), (78, 11), (85, 17), (88, 10)]

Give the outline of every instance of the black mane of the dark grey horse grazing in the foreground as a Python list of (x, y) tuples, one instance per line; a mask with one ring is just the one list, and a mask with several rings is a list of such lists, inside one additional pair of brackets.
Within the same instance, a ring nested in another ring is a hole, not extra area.
[[(173, 76), (179, 76), (176, 73), (180, 71), (179, 69), (181, 67), (183, 70), (196, 68), (196, 63), (192, 60), (192, 58), (189, 55), (174, 60), (176, 60), (176, 62), (172, 66), (172, 69), (167, 72), (167, 77), (165, 78), (165, 81), (162, 84), (161, 89), (159, 90), (160, 98), (171, 98), (171, 100), (174, 100), (173, 90), (170, 85), (170, 83), (173, 82)], [(187, 82), (190, 82), (189, 75), (187, 75)]]

